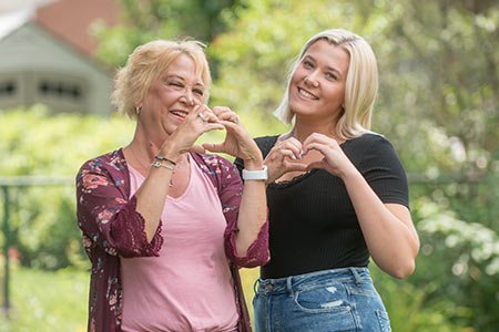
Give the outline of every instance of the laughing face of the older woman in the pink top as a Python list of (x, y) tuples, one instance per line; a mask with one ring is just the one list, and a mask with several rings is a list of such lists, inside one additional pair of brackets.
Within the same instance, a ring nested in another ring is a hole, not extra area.
[(150, 133), (171, 135), (197, 104), (205, 86), (195, 73), (192, 58), (181, 54), (152, 83), (142, 105), (140, 121)]

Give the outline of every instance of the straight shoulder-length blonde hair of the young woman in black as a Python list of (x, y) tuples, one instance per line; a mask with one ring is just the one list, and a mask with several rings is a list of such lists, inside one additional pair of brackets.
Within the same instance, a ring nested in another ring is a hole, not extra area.
[(295, 114), (288, 104), (291, 80), (307, 50), (318, 40), (326, 40), (349, 55), (344, 112), (337, 122), (336, 135), (342, 139), (359, 136), (370, 129), (370, 117), (378, 93), (378, 69), (369, 44), (361, 37), (343, 29), (325, 30), (305, 43), (297, 60), (292, 64), (286, 92), (274, 115), (285, 124), (294, 122)]

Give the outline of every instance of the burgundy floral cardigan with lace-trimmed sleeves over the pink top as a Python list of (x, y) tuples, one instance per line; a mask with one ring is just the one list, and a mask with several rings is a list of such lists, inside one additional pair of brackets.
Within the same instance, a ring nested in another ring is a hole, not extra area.
[[(192, 154), (197, 166), (208, 175), (217, 189), (225, 229), (225, 252), (231, 267), (240, 310), (238, 331), (251, 331), (238, 267), (253, 268), (269, 259), (268, 222), (249, 247), (246, 257), (237, 257), (235, 236), (242, 196), (237, 169), (216, 155)], [(130, 176), (122, 149), (86, 162), (77, 175), (78, 226), (92, 263), (89, 294), (89, 331), (121, 331), (122, 286), (119, 257), (159, 256), (163, 246), (161, 226), (147, 243), (144, 219), (136, 212), (135, 196), (130, 196)]]

